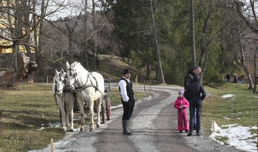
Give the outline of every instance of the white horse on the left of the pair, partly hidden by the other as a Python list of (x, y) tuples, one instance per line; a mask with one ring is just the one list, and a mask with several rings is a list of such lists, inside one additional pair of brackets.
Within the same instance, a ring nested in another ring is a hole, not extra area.
[[(64, 131), (74, 131), (74, 94), (70, 90), (66, 90), (65, 71), (55, 70), (52, 92), (56, 98), (56, 104), (61, 110), (61, 123)], [(68, 129), (66, 128), (66, 125)]]

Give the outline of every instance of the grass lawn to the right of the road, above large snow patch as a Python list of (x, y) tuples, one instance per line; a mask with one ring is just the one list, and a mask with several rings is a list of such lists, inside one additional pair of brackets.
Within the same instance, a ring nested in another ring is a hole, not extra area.
[[(248, 90), (247, 84), (230, 84), (209, 87), (202, 107), (202, 125), (211, 133), (211, 122), (219, 126), (239, 124), (243, 127), (257, 126), (258, 94)], [(234, 97), (222, 98), (224, 94), (234, 94)]]

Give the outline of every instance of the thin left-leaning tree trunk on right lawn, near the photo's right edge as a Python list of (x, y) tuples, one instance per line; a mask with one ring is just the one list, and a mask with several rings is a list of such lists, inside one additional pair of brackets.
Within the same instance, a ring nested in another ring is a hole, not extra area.
[(237, 21), (237, 30), (238, 30), (238, 34), (239, 34), (239, 60), (241, 61), (241, 66), (244, 68), (244, 71), (246, 73), (246, 76), (248, 77), (248, 83), (249, 83), (249, 88), (248, 89), (253, 89), (253, 84), (252, 84), (252, 77), (250, 75), (250, 72), (246, 66), (246, 61), (244, 58), (244, 47), (243, 47), (243, 43), (242, 43), (242, 38), (241, 38), (241, 31), (240, 31), (240, 27), (239, 27), (239, 23)]

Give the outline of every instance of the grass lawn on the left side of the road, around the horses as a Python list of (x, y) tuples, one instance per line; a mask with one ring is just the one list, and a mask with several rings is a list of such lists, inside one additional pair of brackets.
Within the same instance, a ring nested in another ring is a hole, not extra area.
[[(2, 98), (1, 98), (2, 97)], [(144, 97), (136, 92), (136, 99)], [(15, 90), (4, 90), (0, 96), (0, 151), (43, 149), (51, 138), (64, 138), (61, 128), (47, 126), (59, 122), (59, 109), (52, 94), (52, 84), (17, 84)], [(111, 88), (111, 105), (120, 104), (118, 88)], [(75, 114), (76, 117), (76, 114)], [(74, 122), (78, 127), (78, 121)], [(46, 129), (38, 130), (44, 124)]]

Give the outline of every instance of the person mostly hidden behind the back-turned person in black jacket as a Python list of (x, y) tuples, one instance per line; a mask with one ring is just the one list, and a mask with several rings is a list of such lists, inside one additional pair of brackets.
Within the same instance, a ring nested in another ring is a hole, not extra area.
[[(187, 71), (186, 76), (184, 77), (184, 90), (189, 86), (191, 82), (193, 82), (193, 75), (200, 75), (202, 73), (202, 68), (200, 66), (193, 66)], [(196, 112), (195, 112), (196, 115)], [(194, 126), (193, 129), (196, 129), (196, 116), (194, 116)]]

